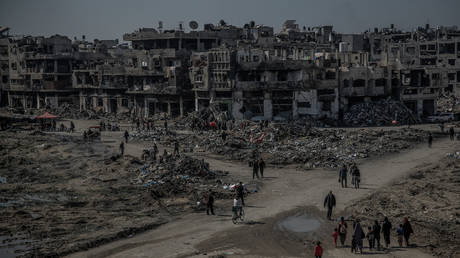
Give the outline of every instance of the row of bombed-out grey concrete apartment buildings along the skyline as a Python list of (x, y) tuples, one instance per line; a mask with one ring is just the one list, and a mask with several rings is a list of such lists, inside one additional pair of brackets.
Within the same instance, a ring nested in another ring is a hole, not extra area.
[(234, 119), (341, 120), (351, 106), (391, 98), (418, 118), (436, 113), (441, 93), (460, 95), (460, 31), (361, 34), (332, 26), (279, 33), (251, 21), (186, 32), (140, 28), (118, 40), (9, 36), (1, 28), (0, 101), (23, 109), (72, 104), (80, 110), (182, 116), (218, 105)]

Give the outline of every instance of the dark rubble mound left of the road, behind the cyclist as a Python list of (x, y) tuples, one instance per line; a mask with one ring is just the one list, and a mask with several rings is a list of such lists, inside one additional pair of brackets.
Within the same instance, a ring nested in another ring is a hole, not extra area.
[(210, 170), (208, 163), (182, 155), (169, 157), (162, 163), (143, 165), (134, 183), (148, 187), (157, 198), (184, 194), (191, 197), (191, 193), (203, 196), (209, 189), (220, 193), (222, 198), (231, 198), (231, 193), (220, 187), (226, 176), (228, 172)]

